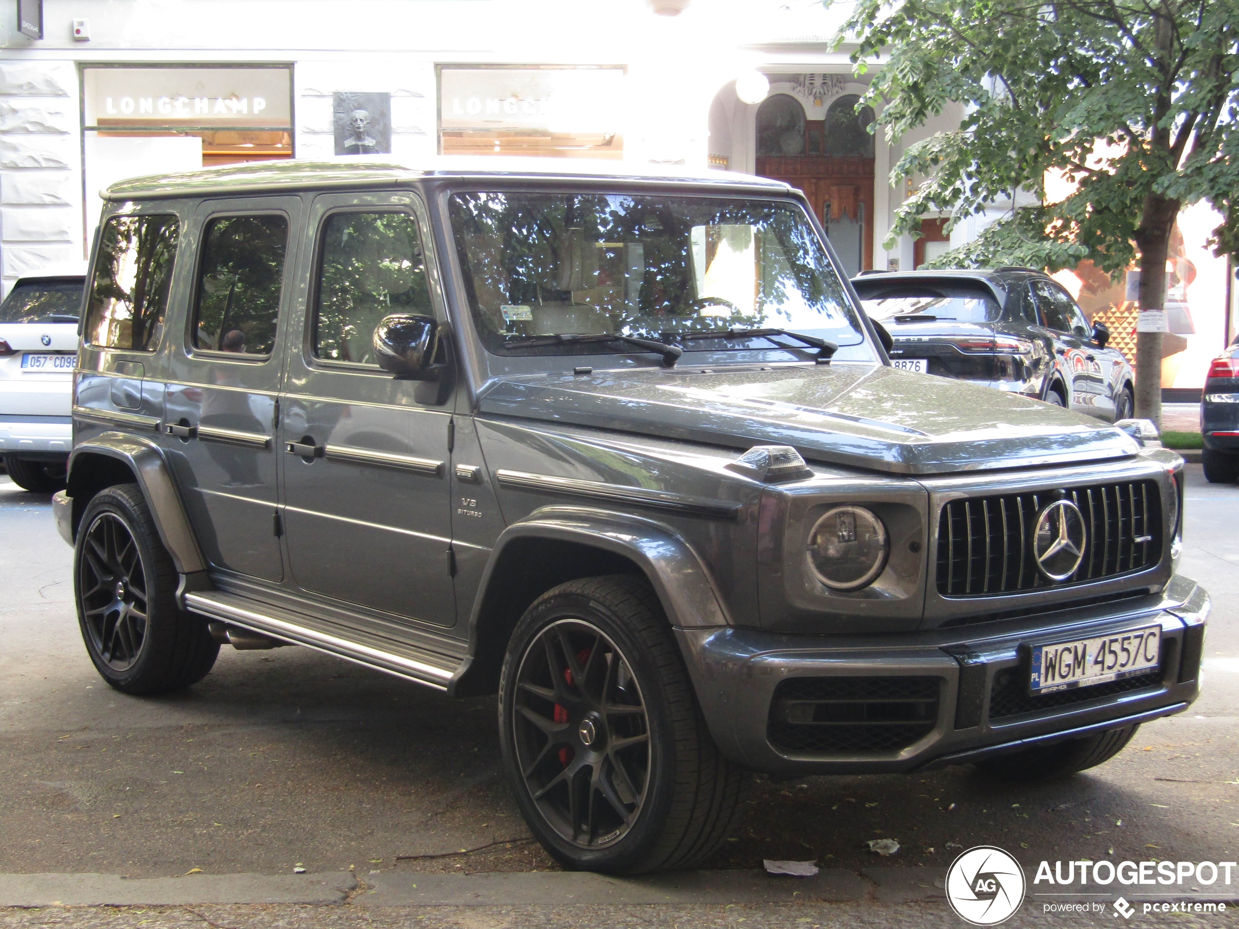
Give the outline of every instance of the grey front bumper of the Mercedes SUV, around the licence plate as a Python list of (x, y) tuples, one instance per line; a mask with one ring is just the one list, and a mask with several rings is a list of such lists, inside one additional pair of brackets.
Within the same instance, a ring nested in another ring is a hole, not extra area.
[[(786, 635), (730, 627), (675, 633), (710, 732), (731, 761), (772, 774), (857, 774), (960, 764), (1181, 712), (1199, 692), (1208, 612), (1204, 590), (1176, 576), (1160, 595), (930, 632)], [(1150, 683), (1068, 691), (1073, 702), (1033, 700), (1018, 712), (995, 704), (995, 695), (1001, 701), (1010, 694), (1012, 675), (1026, 680), (1030, 643), (1110, 635), (1154, 623), (1162, 629), (1162, 660)], [(779, 685), (797, 678), (932, 680), (933, 715), (924, 733), (903, 747), (789, 751), (771, 738), (772, 707)]]

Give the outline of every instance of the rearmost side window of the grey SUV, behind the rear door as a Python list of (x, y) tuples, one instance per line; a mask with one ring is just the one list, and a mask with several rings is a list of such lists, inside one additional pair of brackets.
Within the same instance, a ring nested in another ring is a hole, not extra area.
[(175, 216), (116, 216), (104, 224), (85, 310), (87, 344), (155, 351), (178, 235)]

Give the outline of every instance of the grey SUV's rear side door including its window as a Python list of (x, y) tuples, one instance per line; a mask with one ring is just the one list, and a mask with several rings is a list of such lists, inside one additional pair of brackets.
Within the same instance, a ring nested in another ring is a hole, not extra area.
[(213, 201), (195, 218), (185, 351), (172, 353), (165, 447), (214, 566), (284, 577), (276, 534), (275, 400), (296, 197)]

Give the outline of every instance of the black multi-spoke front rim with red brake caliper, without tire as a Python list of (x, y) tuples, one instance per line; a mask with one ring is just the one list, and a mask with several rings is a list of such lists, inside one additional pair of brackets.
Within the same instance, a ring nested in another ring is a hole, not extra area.
[(517, 671), (514, 747), (529, 796), (582, 850), (623, 839), (649, 787), (649, 717), (632, 665), (582, 619), (544, 627)]

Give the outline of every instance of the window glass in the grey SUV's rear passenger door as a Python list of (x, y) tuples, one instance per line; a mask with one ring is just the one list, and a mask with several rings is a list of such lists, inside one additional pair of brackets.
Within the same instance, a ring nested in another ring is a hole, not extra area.
[(269, 355), (280, 315), (289, 220), (282, 216), (212, 219), (203, 235), (193, 310), (193, 347)]

